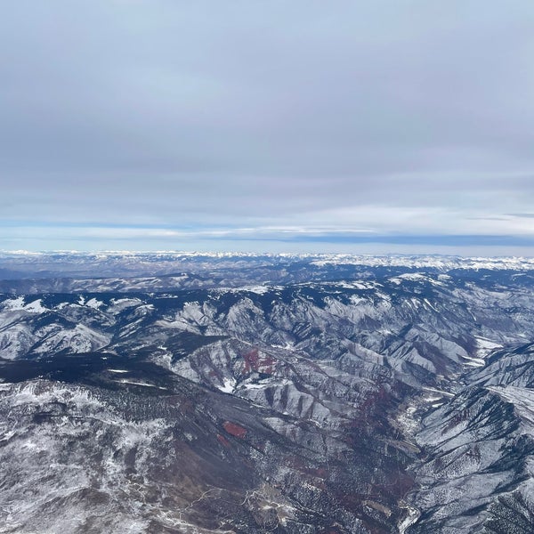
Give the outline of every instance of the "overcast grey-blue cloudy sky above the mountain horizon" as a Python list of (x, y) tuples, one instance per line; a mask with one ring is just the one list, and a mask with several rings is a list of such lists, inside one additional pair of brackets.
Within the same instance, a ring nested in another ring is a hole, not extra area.
[(534, 2), (4, 0), (0, 249), (534, 255)]

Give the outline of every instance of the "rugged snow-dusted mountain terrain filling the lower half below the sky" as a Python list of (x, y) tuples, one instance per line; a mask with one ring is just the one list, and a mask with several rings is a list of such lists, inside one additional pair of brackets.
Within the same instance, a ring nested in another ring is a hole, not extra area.
[(0, 296), (0, 531), (531, 531), (529, 263), (152, 260)]

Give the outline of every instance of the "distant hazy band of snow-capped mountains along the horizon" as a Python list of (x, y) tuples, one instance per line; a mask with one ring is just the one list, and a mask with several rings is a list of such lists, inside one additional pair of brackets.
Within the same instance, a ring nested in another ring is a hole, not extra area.
[[(38, 291), (69, 291), (67, 278), (101, 278), (102, 290), (134, 290), (160, 285), (166, 287), (239, 287), (257, 283), (283, 283), (335, 279), (351, 276), (354, 271), (405, 270), (433, 271), (517, 271), (528, 273), (534, 269), (534, 259), (524, 257), (458, 257), (443, 255), (264, 255), (244, 253), (187, 253), (187, 252), (101, 252), (28, 253), (24, 251), (0, 252), (0, 279), (33, 279), (27, 285), (5, 284), (8, 290), (19, 293)], [(400, 272), (400, 271), (399, 271)], [(147, 279), (141, 280), (142, 277)], [(156, 277), (156, 279), (154, 278)], [(158, 280), (171, 277), (174, 280)], [(114, 282), (103, 278), (116, 278)], [(125, 279), (140, 278), (136, 284)], [(46, 287), (45, 279), (56, 279), (54, 286)], [(60, 285), (58, 285), (60, 284)], [(54, 287), (54, 289), (51, 289)], [(90, 290), (79, 282), (78, 289)], [(6, 290), (4, 289), (4, 290)], [(23, 289), (23, 290), (21, 290)], [(0, 291), (2, 291), (0, 287)], [(76, 289), (75, 289), (76, 290)], [(98, 289), (97, 289), (98, 290)]]

